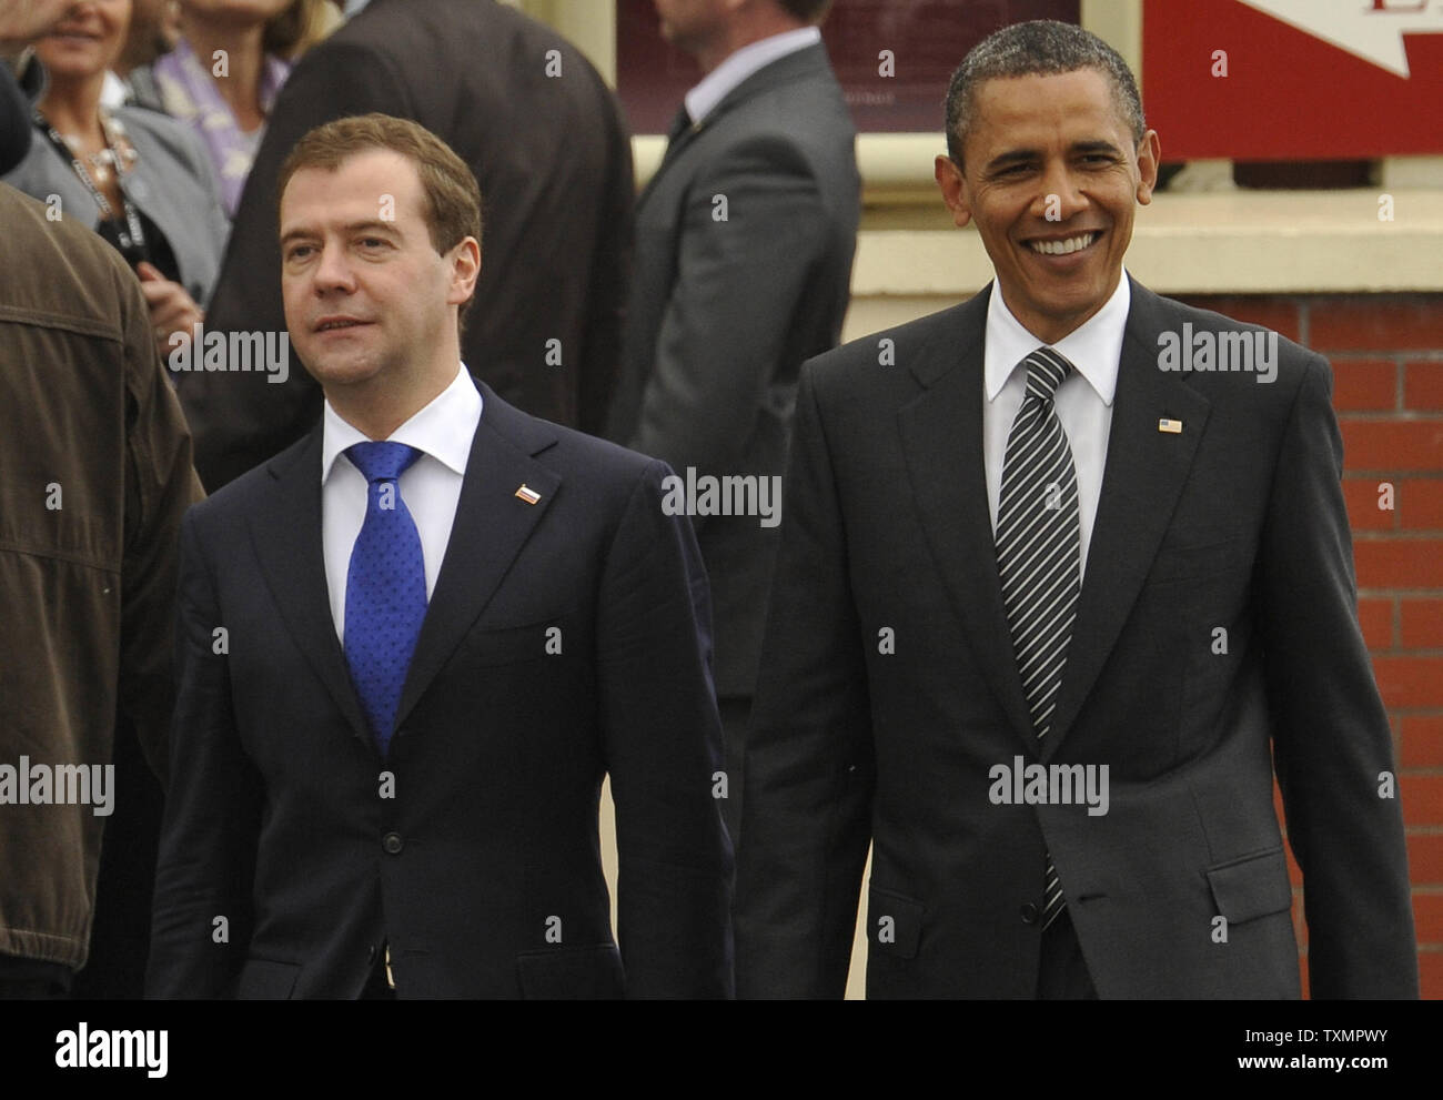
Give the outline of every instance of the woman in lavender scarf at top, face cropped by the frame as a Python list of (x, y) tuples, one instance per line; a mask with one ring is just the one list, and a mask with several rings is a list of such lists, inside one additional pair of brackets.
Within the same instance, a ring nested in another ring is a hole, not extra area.
[(180, 0), (175, 49), (130, 75), (137, 102), (199, 134), (228, 217), (291, 64), (339, 22), (329, 0)]

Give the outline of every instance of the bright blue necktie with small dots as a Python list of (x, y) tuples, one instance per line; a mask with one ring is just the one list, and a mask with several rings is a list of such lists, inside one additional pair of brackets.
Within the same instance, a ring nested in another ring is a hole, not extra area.
[(365, 523), (346, 573), (346, 663), (384, 756), (426, 618), (421, 537), (397, 478), (421, 452), (404, 443), (356, 443), (346, 458), (367, 479)]

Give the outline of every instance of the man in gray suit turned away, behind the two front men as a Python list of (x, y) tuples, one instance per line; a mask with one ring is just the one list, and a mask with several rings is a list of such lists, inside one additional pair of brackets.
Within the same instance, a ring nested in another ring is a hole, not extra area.
[[(860, 182), (856, 131), (815, 26), (828, 7), (657, 1), (662, 35), (707, 75), (636, 206), (608, 437), (678, 475), (779, 488), (797, 371), (841, 333)], [(763, 502), (769, 514), (758, 515)], [(716, 605), (733, 836), (779, 508), (759, 495), (743, 514), (693, 520)]]

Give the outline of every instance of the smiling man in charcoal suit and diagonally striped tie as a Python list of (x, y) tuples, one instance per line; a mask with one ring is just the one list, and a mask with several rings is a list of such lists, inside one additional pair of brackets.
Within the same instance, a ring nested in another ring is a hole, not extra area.
[(1328, 364), (1124, 277), (1159, 141), (1095, 36), (980, 43), (948, 149), (996, 283), (802, 370), (739, 995), (841, 995), (870, 840), (870, 996), (1296, 998), (1276, 769), (1312, 995), (1416, 996)]

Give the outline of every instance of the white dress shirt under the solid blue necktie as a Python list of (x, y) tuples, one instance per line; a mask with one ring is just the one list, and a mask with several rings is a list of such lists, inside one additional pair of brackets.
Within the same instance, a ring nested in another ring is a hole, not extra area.
[[(320, 443), (320, 538), (326, 557), (326, 586), (330, 589), (330, 618), (336, 637), (346, 637), (346, 577), (351, 550), (365, 523), (367, 481), (342, 452), (354, 443), (371, 442), (341, 419), (326, 401)], [(472, 437), (481, 423), (481, 393), (465, 364), (456, 378), (416, 416), (392, 432), (387, 442), (405, 443), (421, 452), (397, 482), (401, 499), (416, 521), (426, 560), (426, 599), (436, 590), (436, 577), (446, 557), (460, 485), (466, 478)]]

